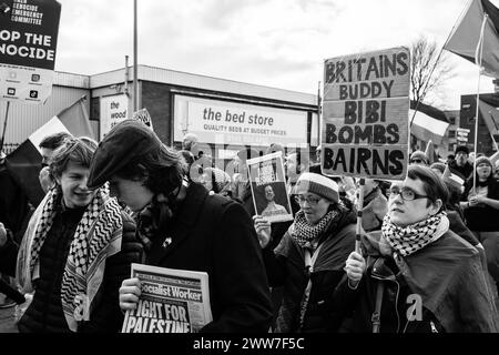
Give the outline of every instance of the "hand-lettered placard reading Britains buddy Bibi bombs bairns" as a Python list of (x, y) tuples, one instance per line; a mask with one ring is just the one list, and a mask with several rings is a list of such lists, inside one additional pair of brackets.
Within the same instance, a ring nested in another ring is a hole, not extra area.
[(328, 59), (324, 74), (323, 173), (404, 179), (409, 50), (400, 47)]

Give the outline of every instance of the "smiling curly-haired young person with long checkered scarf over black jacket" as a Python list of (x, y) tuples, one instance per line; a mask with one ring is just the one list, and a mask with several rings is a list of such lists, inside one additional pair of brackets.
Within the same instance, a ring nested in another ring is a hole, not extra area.
[[(68, 139), (50, 162), (55, 185), (34, 211), (18, 247), (0, 233), (0, 260), (33, 294), (21, 333), (114, 332), (123, 323), (118, 290), (142, 247), (133, 220), (106, 186), (86, 185), (96, 142)], [(7, 265), (9, 263), (9, 265)], [(26, 305), (24, 305), (26, 306)]]

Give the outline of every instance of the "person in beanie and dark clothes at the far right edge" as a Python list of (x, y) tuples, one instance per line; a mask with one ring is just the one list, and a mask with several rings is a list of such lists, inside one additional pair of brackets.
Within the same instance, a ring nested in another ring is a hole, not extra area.
[(489, 273), (499, 288), (499, 182), (487, 156), (478, 156), (475, 163), (476, 190), (471, 176), (466, 182), (460, 205), (467, 226), (483, 245)]

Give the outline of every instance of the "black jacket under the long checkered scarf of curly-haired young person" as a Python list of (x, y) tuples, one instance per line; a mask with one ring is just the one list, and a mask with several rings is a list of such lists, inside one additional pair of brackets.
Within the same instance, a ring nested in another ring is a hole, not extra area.
[[(33, 284), (35, 290), (33, 301), (19, 321), (18, 327), (21, 333), (70, 332), (62, 313), (60, 292), (69, 246), (81, 214), (62, 213), (59, 216), (61, 220), (54, 221), (54, 225), (59, 225), (57, 232), (62, 234), (53, 234), (51, 237), (49, 232), (40, 251), (40, 278)], [(95, 295), (96, 306), (90, 314), (90, 321), (80, 323), (78, 332), (116, 333), (121, 329), (123, 314), (119, 307), (119, 288), (122, 281), (130, 277), (131, 263), (138, 263), (142, 257), (142, 244), (135, 237), (134, 221), (124, 212), (122, 219), (121, 252), (106, 260), (103, 282)], [(17, 251), (18, 245), (13, 241), (9, 241), (0, 250), (3, 271), (8, 271), (11, 276), (14, 276)]]

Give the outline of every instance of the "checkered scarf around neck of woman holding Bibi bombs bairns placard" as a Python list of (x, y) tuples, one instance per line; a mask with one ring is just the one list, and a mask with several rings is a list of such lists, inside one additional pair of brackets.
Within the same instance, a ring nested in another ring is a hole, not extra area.
[(386, 214), (383, 220), (381, 236), (394, 252), (407, 256), (435, 242), (448, 230), (449, 220), (444, 211), (405, 227), (391, 223), (389, 214)]

